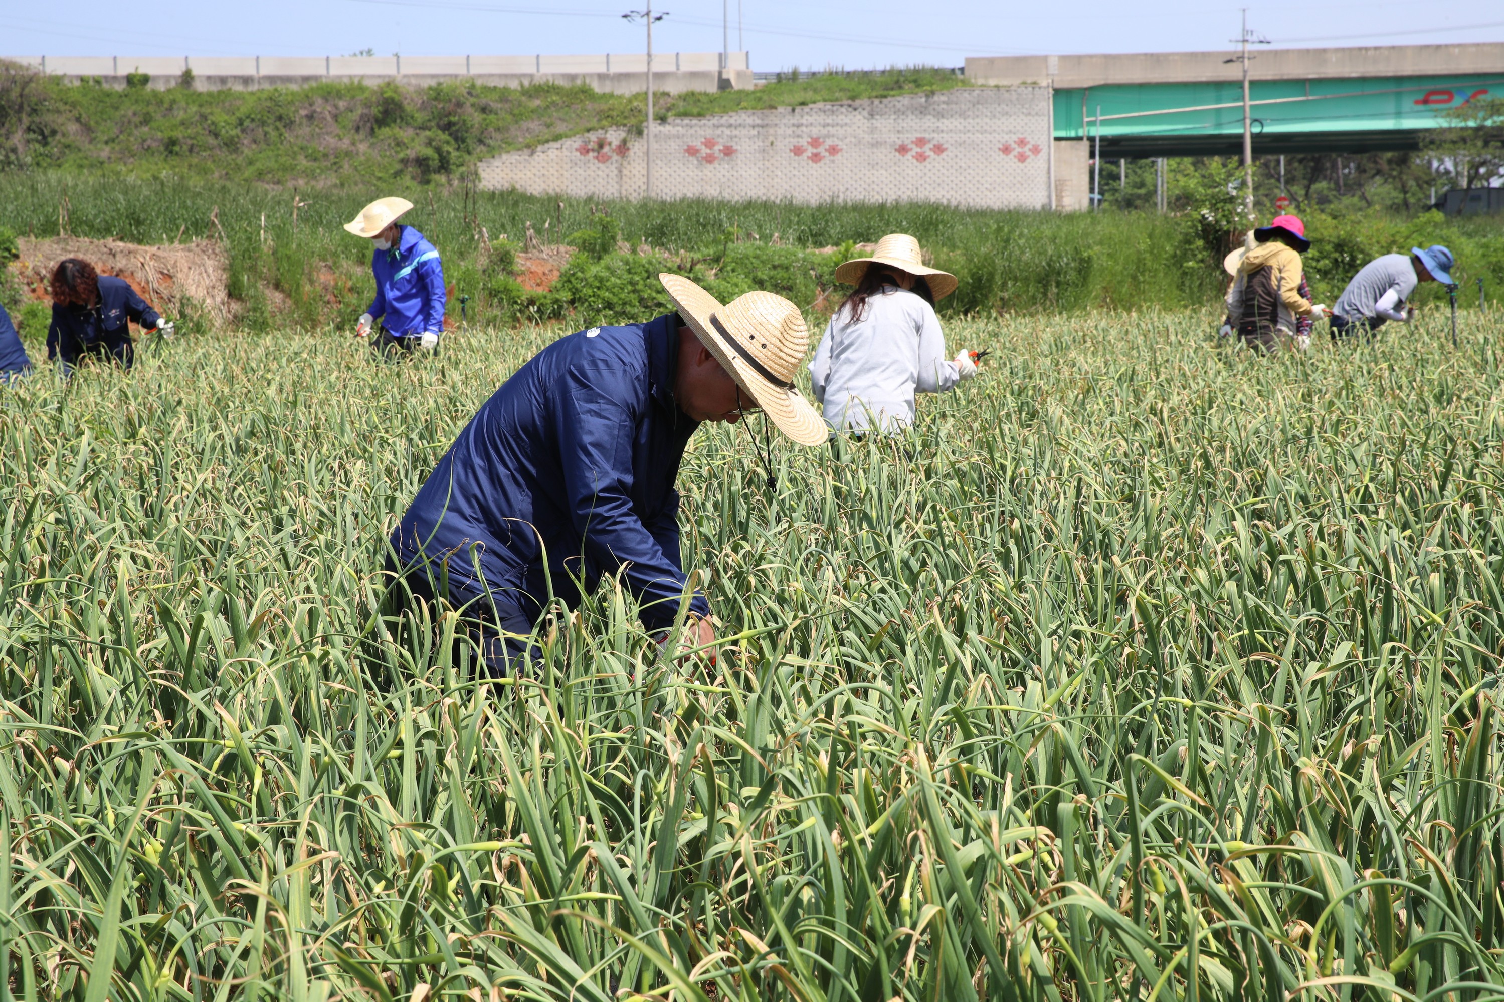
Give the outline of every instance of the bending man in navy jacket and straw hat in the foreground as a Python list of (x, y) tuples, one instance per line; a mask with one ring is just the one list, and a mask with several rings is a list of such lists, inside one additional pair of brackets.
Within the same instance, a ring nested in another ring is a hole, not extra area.
[(695, 428), (761, 409), (800, 445), (826, 425), (794, 389), (809, 346), (803, 314), (752, 291), (722, 306), (660, 275), (677, 314), (555, 341), (456, 439), (390, 538), (399, 602), (465, 610), (492, 675), (505, 675), (550, 596), (575, 607), (618, 575), (642, 623), (663, 631), (689, 595), (686, 641), (714, 641), (689, 590), (674, 481)]

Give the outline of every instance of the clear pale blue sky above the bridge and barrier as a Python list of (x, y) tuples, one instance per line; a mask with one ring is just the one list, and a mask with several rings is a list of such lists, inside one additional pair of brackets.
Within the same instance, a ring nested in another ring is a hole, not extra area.
[[(644, 0), (0, 0), (0, 54), (340, 56), (641, 51), (620, 18)], [(1239, 6), (1193, 0), (729, 0), (731, 48), (754, 69), (960, 66), (967, 56), (1229, 48)], [(659, 0), (659, 51), (716, 51), (723, 0)], [(1248, 26), (1275, 45), (1504, 41), (1498, 0), (1334, 0), (1251, 5)]]

